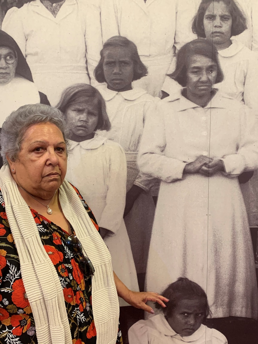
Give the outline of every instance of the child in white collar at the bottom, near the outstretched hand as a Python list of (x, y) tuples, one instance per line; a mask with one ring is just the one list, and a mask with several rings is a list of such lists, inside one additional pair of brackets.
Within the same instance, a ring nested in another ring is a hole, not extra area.
[(135, 323), (128, 332), (129, 344), (227, 344), (221, 332), (203, 325), (211, 312), (205, 291), (197, 283), (181, 277), (162, 295), (169, 299), (166, 308)]

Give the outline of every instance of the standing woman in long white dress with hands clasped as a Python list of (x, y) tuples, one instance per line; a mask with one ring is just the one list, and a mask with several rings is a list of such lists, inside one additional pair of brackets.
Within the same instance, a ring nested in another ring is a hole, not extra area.
[[(207, 292), (214, 318), (257, 318), (248, 219), (237, 176), (258, 168), (258, 129), (249, 109), (217, 92), (216, 48), (185, 44), (173, 78), (183, 87), (148, 118), (140, 170), (161, 180), (147, 288), (185, 276)], [(165, 243), (165, 244), (164, 244)]]

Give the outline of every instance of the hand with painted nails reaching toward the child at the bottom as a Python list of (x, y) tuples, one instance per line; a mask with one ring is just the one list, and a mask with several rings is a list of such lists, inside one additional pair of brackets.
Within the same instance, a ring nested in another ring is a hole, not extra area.
[(169, 300), (164, 298), (164, 296), (159, 295), (158, 293), (130, 290), (128, 293), (128, 298), (126, 298), (125, 301), (135, 308), (140, 308), (146, 312), (154, 314), (153, 309), (146, 304), (147, 301), (158, 302), (164, 308), (166, 307), (164, 302), (168, 302)]

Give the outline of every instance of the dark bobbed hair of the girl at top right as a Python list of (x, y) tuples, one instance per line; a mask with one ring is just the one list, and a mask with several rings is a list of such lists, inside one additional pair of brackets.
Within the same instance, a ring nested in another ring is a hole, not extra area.
[(247, 29), (245, 15), (234, 0), (202, 0), (198, 11), (193, 19), (193, 33), (195, 33), (198, 37), (206, 38), (203, 25), (204, 15), (209, 5), (214, 1), (224, 2), (229, 9), (230, 15), (232, 17), (231, 36), (237, 36)]

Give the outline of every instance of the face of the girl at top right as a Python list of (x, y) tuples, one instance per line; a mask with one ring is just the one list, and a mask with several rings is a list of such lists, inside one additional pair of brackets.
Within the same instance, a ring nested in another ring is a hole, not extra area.
[(231, 45), (232, 17), (223, 1), (212, 1), (207, 8), (203, 26), (205, 36), (217, 49), (226, 49)]

